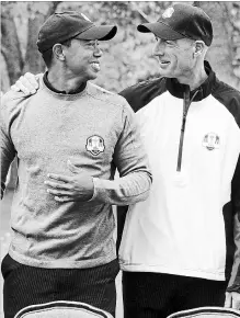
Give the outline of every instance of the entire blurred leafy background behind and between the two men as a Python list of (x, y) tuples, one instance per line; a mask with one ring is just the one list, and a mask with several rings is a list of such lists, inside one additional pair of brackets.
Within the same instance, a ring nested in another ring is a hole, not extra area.
[[(36, 48), (39, 26), (54, 12), (77, 10), (96, 24), (117, 24), (117, 35), (101, 44), (103, 57), (96, 84), (114, 92), (138, 81), (158, 77), (157, 60), (151, 56), (155, 37), (137, 32), (136, 26), (146, 21), (155, 22), (172, 1), (5, 1), (1, 2), (1, 92), (10, 89), (26, 71), (44, 72), (45, 65)], [(212, 19), (214, 42), (207, 54), (217, 76), (240, 90), (240, 2), (188, 1), (201, 7)], [(7, 253), (10, 240), (10, 208), (16, 180), (13, 163), (8, 188), (1, 202), (0, 257)], [(119, 279), (118, 293), (119, 293)], [(2, 280), (0, 277), (0, 288)], [(1, 293), (2, 294), (2, 293)], [(121, 294), (121, 293), (119, 293)], [(123, 317), (121, 296), (117, 318)], [(0, 304), (2, 304), (0, 298)], [(2, 305), (0, 317), (3, 317)]]

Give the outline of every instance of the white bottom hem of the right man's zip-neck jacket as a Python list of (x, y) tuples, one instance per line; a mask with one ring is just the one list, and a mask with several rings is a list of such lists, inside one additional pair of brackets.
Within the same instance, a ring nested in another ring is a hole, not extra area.
[(125, 272), (149, 272), (149, 273), (161, 273), (161, 274), (172, 274), (179, 276), (197, 277), (213, 281), (226, 281), (225, 272), (207, 272), (203, 270), (193, 269), (174, 269), (163, 265), (144, 265), (144, 264), (123, 264), (119, 263), (121, 270)]

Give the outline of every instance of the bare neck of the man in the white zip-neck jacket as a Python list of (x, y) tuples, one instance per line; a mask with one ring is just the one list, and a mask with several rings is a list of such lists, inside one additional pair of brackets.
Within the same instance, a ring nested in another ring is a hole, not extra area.
[(193, 91), (196, 88), (198, 88), (206, 79), (207, 73), (204, 68), (204, 64), (201, 66), (194, 68), (194, 71), (191, 70), (186, 76), (179, 77), (178, 81), (182, 84), (187, 84), (190, 87), (190, 90)]

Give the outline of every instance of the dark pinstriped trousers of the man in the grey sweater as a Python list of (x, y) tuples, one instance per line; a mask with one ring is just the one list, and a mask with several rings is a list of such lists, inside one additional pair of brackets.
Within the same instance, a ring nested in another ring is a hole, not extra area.
[(41, 269), (7, 254), (1, 270), (5, 318), (26, 306), (55, 300), (87, 303), (115, 316), (117, 260), (92, 269)]

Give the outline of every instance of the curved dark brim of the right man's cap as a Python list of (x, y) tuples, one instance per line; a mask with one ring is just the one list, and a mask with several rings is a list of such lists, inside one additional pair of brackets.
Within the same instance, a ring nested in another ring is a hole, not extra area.
[(179, 39), (185, 37), (179, 32), (175, 32), (169, 25), (162, 22), (139, 24), (137, 30), (141, 33), (153, 33), (156, 36), (163, 39)]

